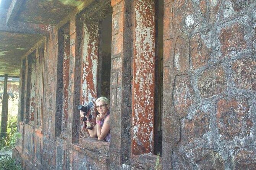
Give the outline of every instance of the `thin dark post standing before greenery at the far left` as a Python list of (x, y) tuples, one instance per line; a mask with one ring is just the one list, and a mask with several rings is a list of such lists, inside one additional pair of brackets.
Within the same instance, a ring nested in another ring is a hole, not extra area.
[(1, 116), (1, 133), (0, 133), (1, 138), (6, 136), (6, 130), (7, 130), (8, 98), (9, 98), (9, 95), (7, 94), (7, 79), (8, 79), (8, 75), (5, 74), (5, 83), (3, 88), (2, 116)]

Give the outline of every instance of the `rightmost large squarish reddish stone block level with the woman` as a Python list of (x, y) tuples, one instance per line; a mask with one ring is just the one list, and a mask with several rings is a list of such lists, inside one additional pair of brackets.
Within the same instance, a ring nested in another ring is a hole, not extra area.
[(248, 98), (234, 96), (220, 99), (217, 101), (216, 115), (221, 140), (232, 141), (235, 137), (242, 139), (250, 135), (253, 122)]

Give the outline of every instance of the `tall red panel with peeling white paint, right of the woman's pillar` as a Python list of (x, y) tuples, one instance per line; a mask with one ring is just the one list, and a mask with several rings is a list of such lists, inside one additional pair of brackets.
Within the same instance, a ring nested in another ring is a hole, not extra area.
[(155, 3), (136, 0), (133, 82), (133, 154), (153, 151)]

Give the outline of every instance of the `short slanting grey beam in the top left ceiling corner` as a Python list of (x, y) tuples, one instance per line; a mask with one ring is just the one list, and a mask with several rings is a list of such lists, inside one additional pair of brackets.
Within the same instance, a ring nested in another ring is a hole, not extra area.
[(7, 16), (6, 16), (6, 24), (9, 25), (11, 22), (14, 21), (14, 18), (16, 14), (19, 11), (19, 8), (21, 7), (21, 4), (24, 2), (24, 0), (12, 0), (11, 5), (8, 9)]

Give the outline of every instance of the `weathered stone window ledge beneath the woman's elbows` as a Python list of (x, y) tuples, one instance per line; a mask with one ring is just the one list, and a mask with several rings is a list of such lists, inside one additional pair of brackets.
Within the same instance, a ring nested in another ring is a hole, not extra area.
[(109, 163), (109, 142), (96, 138), (83, 138), (71, 148), (103, 163)]

